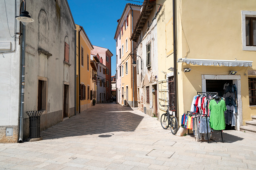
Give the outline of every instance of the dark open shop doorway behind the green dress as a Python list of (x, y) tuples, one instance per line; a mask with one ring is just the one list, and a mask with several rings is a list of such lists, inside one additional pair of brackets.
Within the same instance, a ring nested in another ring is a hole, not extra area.
[[(234, 98), (233, 94), (231, 96), (231, 93), (227, 92), (227, 87), (231, 86), (232, 84), (233, 84), (233, 80), (206, 80), (206, 91), (207, 92), (218, 92), (218, 95), (220, 97), (225, 98), (225, 100), (229, 100), (228, 99), (229, 97)], [(226, 107), (227, 107), (226, 112), (231, 112), (230, 114), (233, 115), (234, 107), (230, 107), (230, 106), (232, 106), (232, 105), (228, 104), (226, 102)], [(227, 119), (226, 114), (229, 114), (229, 113), (225, 113), (225, 119)], [(237, 118), (235, 116), (234, 116), (234, 119), (235, 119), (235, 122), (237, 122)], [(232, 125), (232, 123), (229, 124), (227, 122), (228, 121), (226, 120), (225, 130), (235, 130), (235, 126)]]

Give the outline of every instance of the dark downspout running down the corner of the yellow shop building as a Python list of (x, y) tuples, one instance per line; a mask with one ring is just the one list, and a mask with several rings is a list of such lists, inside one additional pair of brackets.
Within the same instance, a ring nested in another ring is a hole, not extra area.
[[(178, 114), (178, 87), (177, 87), (177, 33), (176, 33), (176, 0), (173, 0), (173, 36), (174, 36), (174, 90), (175, 90), (175, 97), (174, 97), (174, 106), (176, 109), (176, 117), (179, 118), (179, 114)], [(179, 119), (178, 119), (179, 120)]]

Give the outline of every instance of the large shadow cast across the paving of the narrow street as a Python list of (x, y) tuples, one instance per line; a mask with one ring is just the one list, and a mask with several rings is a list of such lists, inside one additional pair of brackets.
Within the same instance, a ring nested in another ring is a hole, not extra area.
[(54, 139), (116, 131), (134, 131), (144, 117), (131, 113), (129, 110), (132, 109), (114, 103), (100, 103), (42, 131), (41, 135), (43, 139)]

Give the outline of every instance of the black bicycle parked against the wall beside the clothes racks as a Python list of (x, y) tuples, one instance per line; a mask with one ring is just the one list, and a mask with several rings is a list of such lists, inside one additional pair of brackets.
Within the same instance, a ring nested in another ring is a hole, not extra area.
[(175, 117), (176, 110), (170, 110), (172, 114), (169, 113), (169, 106), (170, 105), (161, 105), (160, 106), (167, 106), (167, 110), (164, 114), (161, 115), (161, 125), (163, 129), (167, 129), (170, 127), (170, 131), (173, 134), (176, 134), (178, 131), (178, 120)]

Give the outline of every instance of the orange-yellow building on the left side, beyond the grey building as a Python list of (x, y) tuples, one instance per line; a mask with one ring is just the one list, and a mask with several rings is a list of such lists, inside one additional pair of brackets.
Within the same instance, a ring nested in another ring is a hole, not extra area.
[(92, 107), (91, 96), (94, 83), (91, 79), (91, 50), (93, 45), (81, 26), (76, 25), (76, 112), (80, 113)]

